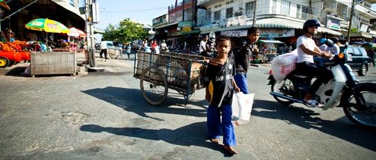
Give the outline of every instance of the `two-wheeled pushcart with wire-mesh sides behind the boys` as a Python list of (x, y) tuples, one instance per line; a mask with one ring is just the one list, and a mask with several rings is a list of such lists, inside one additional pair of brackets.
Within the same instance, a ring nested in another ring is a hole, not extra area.
[(192, 93), (203, 88), (203, 72), (209, 58), (190, 54), (138, 51), (134, 75), (148, 104), (159, 105), (166, 100), (168, 89), (183, 95), (186, 104)]

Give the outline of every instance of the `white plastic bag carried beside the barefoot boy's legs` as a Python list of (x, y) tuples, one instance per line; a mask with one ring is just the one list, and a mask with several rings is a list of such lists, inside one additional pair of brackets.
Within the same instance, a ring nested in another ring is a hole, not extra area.
[(243, 92), (234, 93), (232, 97), (232, 116), (231, 120), (236, 125), (250, 122), (254, 93), (244, 94)]

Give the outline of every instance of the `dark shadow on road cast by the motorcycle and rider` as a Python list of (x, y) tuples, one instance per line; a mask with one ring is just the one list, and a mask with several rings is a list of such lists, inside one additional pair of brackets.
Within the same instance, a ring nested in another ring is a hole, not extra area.
[[(253, 116), (265, 117), (270, 119), (281, 119), (287, 124), (295, 124), (302, 128), (315, 128), (322, 133), (333, 135), (345, 141), (349, 141), (358, 146), (376, 151), (375, 130), (366, 130), (352, 124), (346, 116), (329, 121), (320, 117), (312, 117), (320, 115), (307, 108), (297, 106), (283, 106), (278, 102), (267, 100), (255, 100), (254, 108), (262, 108), (263, 111), (252, 111)], [(267, 110), (267, 111), (265, 111)], [(309, 138), (309, 137), (307, 137)]]

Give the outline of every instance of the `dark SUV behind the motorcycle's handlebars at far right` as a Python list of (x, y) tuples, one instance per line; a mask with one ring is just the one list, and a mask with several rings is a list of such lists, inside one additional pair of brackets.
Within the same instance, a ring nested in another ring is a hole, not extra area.
[[(344, 47), (340, 47), (340, 52), (344, 52)], [(372, 63), (372, 58), (367, 56), (366, 49), (356, 45), (349, 45), (345, 54), (350, 54), (353, 57), (352, 61), (346, 62), (351, 69), (357, 71), (359, 76), (365, 76)]]

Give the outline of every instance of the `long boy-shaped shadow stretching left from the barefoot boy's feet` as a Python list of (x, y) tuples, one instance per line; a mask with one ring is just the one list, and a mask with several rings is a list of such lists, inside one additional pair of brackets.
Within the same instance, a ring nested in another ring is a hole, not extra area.
[(80, 127), (80, 130), (91, 133), (101, 133), (107, 132), (113, 135), (122, 135), (127, 137), (137, 137), (142, 139), (151, 139), (155, 141), (166, 141), (170, 144), (179, 146), (200, 146), (205, 148), (210, 148), (212, 150), (218, 150), (222, 152), (225, 157), (230, 157), (232, 155), (225, 152), (221, 145), (212, 144), (206, 141), (206, 122), (197, 122), (194, 124), (189, 124), (187, 126), (182, 126), (175, 130), (170, 129), (144, 129), (144, 128), (113, 128), (113, 127), (102, 127), (96, 124), (87, 124)]

